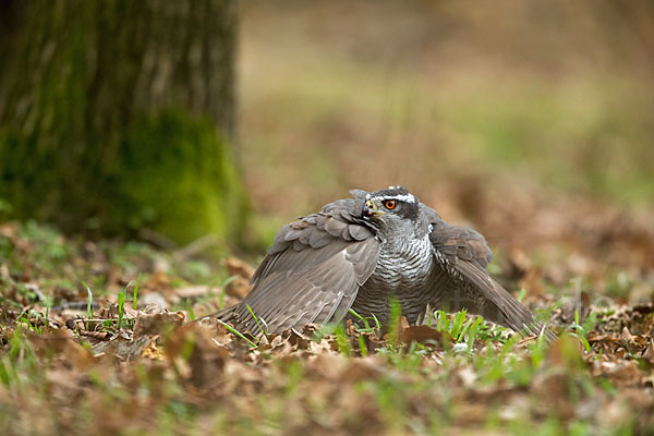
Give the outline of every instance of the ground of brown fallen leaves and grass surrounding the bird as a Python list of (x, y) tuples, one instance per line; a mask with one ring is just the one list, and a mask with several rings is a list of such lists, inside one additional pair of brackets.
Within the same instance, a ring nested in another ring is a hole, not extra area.
[(247, 292), (242, 261), (0, 223), (0, 434), (654, 432), (647, 216), (514, 190), (480, 196), (491, 269), (552, 344), (443, 313), (255, 339), (189, 323)]

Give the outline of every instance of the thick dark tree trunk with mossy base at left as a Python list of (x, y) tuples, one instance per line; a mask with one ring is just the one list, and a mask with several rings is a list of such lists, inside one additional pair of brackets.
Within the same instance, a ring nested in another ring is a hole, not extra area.
[(0, 8), (0, 199), (17, 218), (240, 234), (235, 0)]

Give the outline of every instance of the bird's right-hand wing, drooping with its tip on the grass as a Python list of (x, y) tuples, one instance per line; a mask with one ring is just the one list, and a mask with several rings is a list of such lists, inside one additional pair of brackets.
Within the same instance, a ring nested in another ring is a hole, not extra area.
[(544, 331), (554, 339), (550, 330), (543, 329), (533, 314), (491, 277), (486, 266), (493, 255), (484, 237), (467, 227), (450, 226), (422, 207), (433, 226), (429, 239), (440, 267), (435, 283), (440, 289), (439, 301), (434, 305), (449, 311), (465, 308), (516, 331)]

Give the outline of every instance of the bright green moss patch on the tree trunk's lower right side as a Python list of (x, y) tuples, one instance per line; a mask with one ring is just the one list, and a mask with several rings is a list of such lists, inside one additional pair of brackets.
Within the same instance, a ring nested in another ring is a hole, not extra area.
[(141, 118), (106, 178), (116, 197), (125, 198), (117, 221), (181, 242), (207, 232), (238, 239), (247, 206), (233, 161), (208, 120), (175, 111)]

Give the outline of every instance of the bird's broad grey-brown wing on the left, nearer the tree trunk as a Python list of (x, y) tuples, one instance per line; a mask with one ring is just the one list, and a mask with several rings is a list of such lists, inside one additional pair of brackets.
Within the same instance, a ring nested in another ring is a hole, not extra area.
[(358, 218), (359, 203), (338, 201), (283, 226), (252, 278), (252, 292), (222, 317), (254, 334), (342, 319), (380, 247)]

